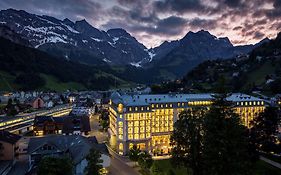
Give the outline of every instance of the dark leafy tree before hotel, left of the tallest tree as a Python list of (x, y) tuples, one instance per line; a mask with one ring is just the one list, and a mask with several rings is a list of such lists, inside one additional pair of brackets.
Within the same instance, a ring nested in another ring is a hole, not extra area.
[(202, 174), (203, 119), (205, 109), (180, 113), (171, 136), (172, 158), (176, 165), (191, 168), (194, 175)]

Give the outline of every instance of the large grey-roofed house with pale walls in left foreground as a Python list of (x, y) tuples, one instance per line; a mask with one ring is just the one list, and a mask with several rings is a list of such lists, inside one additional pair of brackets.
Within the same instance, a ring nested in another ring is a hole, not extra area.
[(28, 145), (29, 168), (32, 171), (44, 156), (71, 158), (74, 164), (74, 174), (84, 174), (88, 162), (86, 156), (91, 148), (101, 152), (103, 168), (110, 166), (110, 157), (104, 144), (90, 142), (86, 137), (77, 135), (49, 135), (31, 138)]

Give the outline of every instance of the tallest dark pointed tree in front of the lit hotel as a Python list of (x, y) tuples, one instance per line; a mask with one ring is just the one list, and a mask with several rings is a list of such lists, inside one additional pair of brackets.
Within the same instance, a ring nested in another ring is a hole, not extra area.
[(250, 174), (246, 128), (226, 101), (217, 95), (204, 119), (204, 174)]

